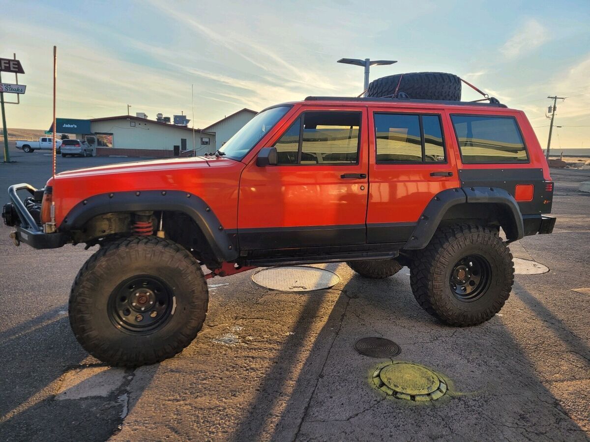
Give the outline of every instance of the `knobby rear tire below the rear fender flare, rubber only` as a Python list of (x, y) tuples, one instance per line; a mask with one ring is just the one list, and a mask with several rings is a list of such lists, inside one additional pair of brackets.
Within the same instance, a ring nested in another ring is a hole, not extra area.
[[(455, 263), (468, 255), (481, 256), (490, 268), (489, 286), (479, 298), (461, 301), (451, 288)], [(514, 282), (510, 249), (489, 227), (458, 225), (440, 229), (418, 252), (410, 269), (418, 304), (448, 325), (481, 324), (500, 311)]]

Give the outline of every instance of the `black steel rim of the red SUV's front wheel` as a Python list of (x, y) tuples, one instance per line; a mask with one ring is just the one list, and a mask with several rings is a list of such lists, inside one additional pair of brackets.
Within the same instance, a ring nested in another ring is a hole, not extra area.
[(173, 302), (172, 289), (159, 278), (133, 276), (111, 293), (109, 316), (120, 328), (146, 334), (168, 322)]

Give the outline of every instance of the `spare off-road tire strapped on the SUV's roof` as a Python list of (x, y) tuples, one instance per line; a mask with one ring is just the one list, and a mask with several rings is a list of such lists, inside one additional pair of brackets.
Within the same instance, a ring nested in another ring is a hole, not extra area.
[(387, 97), (394, 95), (396, 90), (398, 96), (404, 93), (415, 100), (461, 101), (461, 78), (445, 72), (388, 75), (371, 81), (367, 97)]

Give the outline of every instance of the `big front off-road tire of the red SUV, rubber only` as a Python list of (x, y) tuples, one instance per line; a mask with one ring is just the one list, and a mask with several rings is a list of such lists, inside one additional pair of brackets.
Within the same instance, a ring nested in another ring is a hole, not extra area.
[[(136, 275), (159, 278), (174, 297), (168, 320), (148, 334), (116, 325), (109, 314), (112, 293)], [(132, 236), (101, 247), (84, 263), (68, 311), (76, 339), (91, 355), (109, 365), (139, 367), (171, 358), (189, 345), (205, 321), (208, 302), (201, 266), (186, 249), (167, 239)]]

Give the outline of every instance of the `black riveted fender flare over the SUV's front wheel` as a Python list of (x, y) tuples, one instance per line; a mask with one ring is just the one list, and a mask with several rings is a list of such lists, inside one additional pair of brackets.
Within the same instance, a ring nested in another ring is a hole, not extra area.
[(202, 230), (219, 262), (238, 258), (238, 251), (232, 245), (230, 235), (225, 232), (211, 207), (195, 194), (181, 190), (142, 190), (94, 195), (76, 204), (65, 216), (59, 230), (81, 230), (90, 219), (104, 213), (143, 210), (185, 213)]

